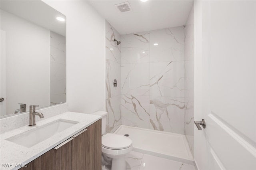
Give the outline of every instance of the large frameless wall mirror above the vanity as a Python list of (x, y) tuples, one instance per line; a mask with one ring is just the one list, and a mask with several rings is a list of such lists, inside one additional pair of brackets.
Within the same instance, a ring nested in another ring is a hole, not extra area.
[(40, 0), (0, 8), (1, 118), (66, 102), (66, 16)]

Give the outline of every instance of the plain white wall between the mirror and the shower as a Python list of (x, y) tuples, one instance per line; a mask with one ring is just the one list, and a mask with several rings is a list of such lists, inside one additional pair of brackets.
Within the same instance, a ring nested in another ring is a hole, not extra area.
[(105, 110), (105, 19), (86, 1), (44, 2), (66, 16), (68, 110)]

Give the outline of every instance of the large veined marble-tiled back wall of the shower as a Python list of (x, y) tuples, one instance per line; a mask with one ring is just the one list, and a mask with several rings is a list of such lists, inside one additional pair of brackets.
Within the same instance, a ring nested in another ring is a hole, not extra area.
[(121, 42), (122, 125), (184, 134), (184, 26)]

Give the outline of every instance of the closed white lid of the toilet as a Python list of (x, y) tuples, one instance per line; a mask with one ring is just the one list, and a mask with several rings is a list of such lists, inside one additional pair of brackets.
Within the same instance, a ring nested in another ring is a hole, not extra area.
[(132, 146), (132, 140), (119, 134), (107, 133), (102, 137), (102, 146), (108, 149), (125, 149)]

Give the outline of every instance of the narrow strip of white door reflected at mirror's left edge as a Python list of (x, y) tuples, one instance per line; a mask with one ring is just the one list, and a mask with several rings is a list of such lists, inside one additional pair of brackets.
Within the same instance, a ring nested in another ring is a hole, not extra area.
[(6, 32), (0, 30), (0, 116), (6, 115)]

